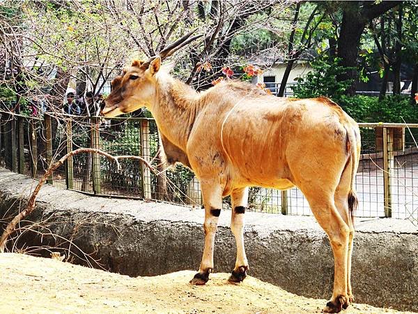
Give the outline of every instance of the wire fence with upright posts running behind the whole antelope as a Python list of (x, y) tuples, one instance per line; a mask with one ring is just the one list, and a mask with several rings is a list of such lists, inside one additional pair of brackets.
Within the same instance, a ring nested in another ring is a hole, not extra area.
[[(155, 158), (157, 126), (148, 118), (75, 117), (43, 119), (0, 112), (0, 158), (8, 169), (34, 178), (72, 149), (91, 147), (113, 155), (143, 156), (162, 171), (156, 176), (138, 160), (123, 160), (122, 171), (96, 154), (68, 158), (48, 183), (92, 195), (141, 198), (201, 206), (199, 181), (187, 168), (163, 171)], [(356, 188), (356, 216), (418, 219), (418, 124), (359, 124), (362, 155)], [(303, 154), (301, 152), (301, 154)], [(326, 171), (324, 169), (323, 171)], [(226, 200), (228, 203), (228, 200)], [(300, 190), (251, 188), (249, 207), (269, 213), (311, 215)]]

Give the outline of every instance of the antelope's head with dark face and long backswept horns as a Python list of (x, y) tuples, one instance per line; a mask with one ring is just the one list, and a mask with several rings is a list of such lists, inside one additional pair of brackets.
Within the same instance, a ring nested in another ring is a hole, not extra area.
[(162, 60), (201, 37), (201, 35), (190, 37), (192, 33), (194, 30), (148, 61), (134, 60), (130, 66), (124, 68), (122, 74), (111, 81), (111, 93), (104, 100), (102, 114), (105, 117), (116, 117), (144, 106), (150, 107), (155, 99), (155, 74), (160, 70)]

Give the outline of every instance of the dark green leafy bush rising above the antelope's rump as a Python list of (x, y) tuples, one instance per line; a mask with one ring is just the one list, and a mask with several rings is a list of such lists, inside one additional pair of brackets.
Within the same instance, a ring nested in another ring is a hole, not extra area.
[(295, 97), (314, 98), (318, 96), (327, 96), (339, 98), (345, 94), (350, 86), (351, 80), (336, 80), (337, 75), (343, 71), (350, 70), (339, 66), (338, 58), (330, 58), (327, 55), (318, 57), (311, 62), (313, 68), (306, 76), (299, 77), (295, 87), (292, 87)]

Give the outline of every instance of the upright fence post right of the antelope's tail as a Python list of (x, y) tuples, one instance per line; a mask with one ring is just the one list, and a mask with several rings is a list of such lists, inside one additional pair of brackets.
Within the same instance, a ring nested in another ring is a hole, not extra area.
[(394, 170), (394, 130), (383, 128), (383, 185), (385, 217), (392, 217), (392, 177)]

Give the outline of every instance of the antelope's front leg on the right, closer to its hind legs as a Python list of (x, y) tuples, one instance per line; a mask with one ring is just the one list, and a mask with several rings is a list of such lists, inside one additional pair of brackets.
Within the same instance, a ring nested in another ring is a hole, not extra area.
[(237, 260), (229, 277), (230, 282), (240, 283), (247, 276), (248, 260), (244, 248), (244, 214), (248, 204), (248, 188), (233, 190), (231, 230), (237, 244)]

